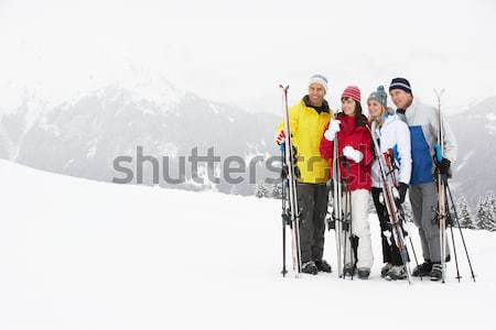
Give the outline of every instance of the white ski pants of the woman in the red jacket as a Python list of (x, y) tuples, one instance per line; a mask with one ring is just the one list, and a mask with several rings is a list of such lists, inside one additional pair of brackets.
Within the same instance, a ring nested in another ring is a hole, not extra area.
[[(370, 199), (370, 191), (367, 189), (357, 189), (351, 193), (351, 202), (347, 201), (345, 196), (343, 197), (343, 209), (352, 211), (352, 234), (358, 239), (357, 246), (357, 268), (371, 268), (374, 263), (374, 254), (371, 250), (370, 239), (370, 223), (368, 221), (368, 205)], [(343, 251), (345, 255), (345, 263), (355, 262), (355, 255), (352, 249), (352, 240), (349, 238), (349, 231), (346, 232), (346, 237), (343, 242)]]

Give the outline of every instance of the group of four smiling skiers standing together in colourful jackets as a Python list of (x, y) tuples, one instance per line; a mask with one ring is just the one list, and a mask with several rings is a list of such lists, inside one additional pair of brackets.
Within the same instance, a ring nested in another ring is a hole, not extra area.
[[(423, 263), (412, 276), (430, 276), (441, 279), (440, 228), (436, 221), (438, 191), (435, 170), (451, 173), (456, 160), (457, 145), (454, 135), (443, 121), (444, 148), (442, 160), (435, 155), (439, 135), (439, 110), (413, 97), (406, 78), (395, 78), (389, 85), (389, 96), (396, 110), (388, 107), (388, 94), (382, 86), (366, 99), (368, 118), (362, 108), (360, 90), (348, 86), (341, 96), (342, 110), (330, 109), (325, 95), (328, 82), (322, 75), (309, 80), (309, 92), (289, 109), (292, 144), (296, 151), (296, 195), (300, 215), (300, 249), (303, 273), (331, 273), (331, 265), (323, 258), (325, 218), (328, 204), (328, 185), (332, 166), (338, 164), (344, 194), (351, 209), (351, 237), (345, 255), (354, 254), (345, 263), (344, 274), (357, 274), (367, 279), (374, 263), (369, 224), (369, 200), (374, 201), (381, 230), (384, 266), (382, 277), (405, 279), (406, 268), (398, 246), (391, 238), (390, 220), (381, 196), (381, 176), (377, 155), (390, 153), (397, 179), (395, 197), (403, 204), (409, 191), (413, 221), (419, 229)], [(371, 132), (371, 129), (374, 132)], [(371, 134), (377, 136), (374, 150)], [(276, 143), (285, 140), (284, 125), (280, 123)], [(334, 142), (337, 141), (338, 162), (333, 162)], [(448, 249), (448, 246), (446, 246)], [(351, 251), (353, 250), (353, 251)], [(449, 250), (446, 250), (449, 251)], [(446, 254), (446, 261), (450, 254)]]

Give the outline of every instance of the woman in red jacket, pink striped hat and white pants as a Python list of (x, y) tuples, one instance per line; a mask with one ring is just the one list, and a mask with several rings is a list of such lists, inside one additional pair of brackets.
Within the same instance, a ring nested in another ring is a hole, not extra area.
[[(351, 196), (352, 237), (346, 237), (344, 275), (358, 271), (358, 277), (370, 275), (374, 262), (368, 222), (370, 169), (374, 161), (367, 118), (362, 113), (360, 90), (347, 87), (341, 97), (343, 112), (331, 121), (321, 140), (321, 155), (333, 164), (334, 140), (338, 141), (339, 169), (345, 194)], [(345, 197), (343, 197), (343, 200)], [(353, 246), (351, 246), (353, 244)], [(355, 250), (356, 255), (352, 255)]]

